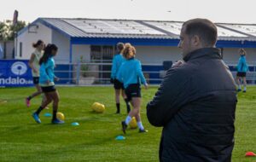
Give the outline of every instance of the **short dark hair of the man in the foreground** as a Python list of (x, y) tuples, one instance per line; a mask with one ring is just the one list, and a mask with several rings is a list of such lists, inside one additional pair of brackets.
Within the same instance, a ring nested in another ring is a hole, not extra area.
[(183, 27), (185, 27), (185, 34), (189, 35), (189, 37), (197, 35), (199, 38), (201, 38), (201, 43), (203, 46), (214, 46), (217, 42), (217, 27), (211, 20), (188, 20), (183, 23)]

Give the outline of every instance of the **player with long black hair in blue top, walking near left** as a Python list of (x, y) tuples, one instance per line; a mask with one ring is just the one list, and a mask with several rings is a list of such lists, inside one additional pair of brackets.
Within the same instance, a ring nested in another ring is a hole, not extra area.
[(58, 48), (55, 44), (48, 44), (47, 47), (44, 49), (44, 55), (40, 59), (40, 78), (39, 84), (41, 89), (44, 92), (46, 100), (42, 103), (38, 110), (35, 113), (32, 113), (33, 119), (40, 124), (41, 120), (39, 119), (39, 113), (47, 107), (47, 105), (53, 101), (53, 118), (51, 120), (52, 124), (63, 124), (64, 121), (56, 118), (56, 113), (58, 111), (59, 105), (59, 93), (55, 89), (55, 81), (58, 81), (59, 78), (55, 77), (54, 68), (55, 68), (55, 61), (53, 57), (57, 55)]

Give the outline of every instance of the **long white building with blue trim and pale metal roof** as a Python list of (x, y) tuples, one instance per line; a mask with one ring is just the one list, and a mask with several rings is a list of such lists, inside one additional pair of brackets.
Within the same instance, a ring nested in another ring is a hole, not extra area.
[[(143, 65), (162, 67), (163, 61), (181, 59), (177, 43), (182, 24), (179, 21), (38, 18), (18, 33), (15, 58), (29, 59), (34, 50), (32, 43), (42, 39), (59, 47), (57, 64), (75, 63), (81, 58), (87, 62), (110, 61), (115, 44), (123, 42), (136, 47), (137, 58)], [(216, 25), (217, 47), (222, 49), (225, 62), (235, 64), (239, 48), (247, 50), (250, 64), (256, 62), (256, 25)]]

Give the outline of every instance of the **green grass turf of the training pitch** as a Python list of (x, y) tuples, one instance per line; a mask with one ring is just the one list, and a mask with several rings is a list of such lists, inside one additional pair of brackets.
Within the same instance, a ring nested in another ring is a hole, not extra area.
[[(125, 103), (121, 115), (115, 113), (111, 87), (58, 87), (60, 109), (66, 124), (50, 124), (41, 113), (42, 124), (36, 124), (32, 112), (41, 97), (25, 106), (25, 96), (33, 88), (0, 89), (0, 161), (158, 161), (161, 128), (148, 123), (145, 106), (157, 88), (143, 90), (142, 118), (147, 134), (127, 130), (125, 141), (115, 141), (122, 135), (120, 121), (125, 119)], [(256, 152), (256, 87), (239, 93), (236, 109), (236, 146), (232, 161), (256, 161), (245, 158), (247, 151)], [(7, 102), (4, 102), (7, 101)], [(105, 113), (92, 113), (90, 106), (99, 101), (107, 107)], [(79, 126), (71, 123), (79, 122)]]

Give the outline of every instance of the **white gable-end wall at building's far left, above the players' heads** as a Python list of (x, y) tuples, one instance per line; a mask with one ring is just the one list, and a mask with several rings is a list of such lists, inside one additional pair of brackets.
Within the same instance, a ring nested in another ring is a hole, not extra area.
[[(44, 43), (51, 43), (51, 30), (49, 27), (38, 23), (37, 33), (29, 33), (28, 30), (23, 32), (17, 38), (17, 54), (15, 55), (16, 59), (29, 59), (32, 52), (35, 50), (32, 47), (32, 43), (37, 43), (38, 39), (44, 41)], [(20, 57), (20, 42), (22, 43), (22, 56)]]

